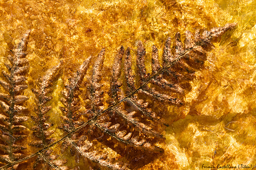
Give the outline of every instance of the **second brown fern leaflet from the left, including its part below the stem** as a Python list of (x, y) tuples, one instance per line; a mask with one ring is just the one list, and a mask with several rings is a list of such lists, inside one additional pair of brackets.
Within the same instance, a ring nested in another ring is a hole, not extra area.
[[(60, 63), (46, 71), (44, 76), (40, 77), (37, 83), (37, 89), (32, 89), (32, 92), (35, 94), (35, 103), (36, 108), (34, 111), (36, 116), (32, 116), (31, 118), (35, 121), (35, 125), (31, 128), (33, 131), (33, 137), (36, 138), (34, 141), (30, 142), (29, 145), (36, 148), (44, 148), (56, 141), (55, 138), (50, 137), (54, 134), (54, 130), (49, 130), (54, 124), (47, 123), (50, 116), (47, 115), (48, 111), (52, 109), (51, 106), (47, 106), (47, 102), (49, 102), (53, 97), (48, 96), (50, 92), (52, 92), (52, 83), (54, 80), (58, 78), (60, 75), (60, 69), (62, 67), (63, 62)], [(52, 150), (44, 150), (39, 153), (36, 161), (33, 165), (34, 169), (42, 167), (43, 169), (58, 169), (64, 170), (67, 169), (66, 166), (63, 166), (67, 161), (66, 160), (56, 160), (57, 156), (52, 155)], [(61, 166), (61, 167), (59, 167)]]

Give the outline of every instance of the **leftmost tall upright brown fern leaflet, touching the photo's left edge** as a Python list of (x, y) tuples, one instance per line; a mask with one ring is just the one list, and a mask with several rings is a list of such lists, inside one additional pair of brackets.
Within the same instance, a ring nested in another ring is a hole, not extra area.
[[(2, 71), (5, 80), (0, 80), (0, 85), (6, 91), (0, 92), (0, 129), (2, 135), (0, 135), (0, 164), (13, 163), (25, 155), (23, 150), (24, 138), (26, 135), (24, 131), (27, 129), (22, 122), (28, 120), (25, 112), (27, 107), (24, 106), (24, 102), (28, 100), (27, 96), (22, 95), (23, 91), (28, 88), (26, 85), (26, 73), (28, 72), (29, 64), (26, 59), (26, 48), (30, 30), (27, 31), (20, 43), (16, 45), (12, 51), (12, 55), (8, 56), (8, 63), (4, 63), (8, 72)], [(23, 143), (23, 145), (22, 145)], [(16, 169), (18, 164), (13, 166)]]

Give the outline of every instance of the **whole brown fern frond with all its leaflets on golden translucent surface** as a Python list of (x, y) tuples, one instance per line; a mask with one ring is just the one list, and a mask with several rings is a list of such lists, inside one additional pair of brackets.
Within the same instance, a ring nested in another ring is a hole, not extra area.
[[(64, 80), (60, 98), (63, 105), (59, 106), (62, 123), (56, 125), (64, 135), (58, 140), (53, 137), (57, 128), (49, 123), (48, 111), (52, 109), (49, 101), (53, 98), (54, 81), (65, 74), (62, 73), (64, 62), (60, 61), (41, 75), (36, 88), (32, 88), (35, 108), (25, 107), (29, 105), (23, 91), (28, 88), (25, 81), (29, 61), (25, 57), (30, 31), (26, 32), (8, 56), (10, 63), (5, 65), (9, 72), (2, 72), (5, 80), (0, 80), (6, 91), (0, 93), (1, 169), (27, 166), (30, 169), (78, 170), (83, 166), (129, 170), (150, 163), (164, 152), (159, 144), (164, 143), (164, 129), (168, 125), (152, 110), (154, 103), (147, 99), (182, 106), (184, 94), (189, 91), (188, 81), (194, 78), (196, 70), (202, 69), (206, 51), (213, 47), (211, 41), (235, 26), (236, 23), (231, 23), (202, 33), (197, 30), (194, 34), (186, 31), (184, 44), (180, 33), (176, 33), (174, 48), (168, 37), (162, 66), (158, 49), (153, 45), (151, 74), (146, 70), (146, 49), (141, 41), (137, 43), (135, 70), (130, 49), (120, 47), (114, 57), (108, 91), (102, 88), (101, 80), (105, 49), (95, 58), (88, 57)], [(81, 94), (86, 95), (81, 97)], [(34, 126), (24, 126), (23, 122), (28, 119), (34, 121)], [(31, 138), (28, 145), (25, 145), (26, 137)], [(57, 149), (52, 149), (56, 145)], [(27, 147), (36, 151), (31, 153)], [(72, 156), (76, 164), (69, 164), (62, 154)], [(139, 161), (142, 157), (145, 159)]]

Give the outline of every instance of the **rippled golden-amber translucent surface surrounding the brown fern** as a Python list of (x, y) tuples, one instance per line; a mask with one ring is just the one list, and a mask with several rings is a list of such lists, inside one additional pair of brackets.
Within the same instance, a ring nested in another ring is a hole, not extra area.
[[(140, 169), (202, 169), (204, 166), (256, 166), (256, 69), (255, 69), (255, 10), (253, 0), (0, 0), (0, 68), (13, 45), (26, 30), (32, 29), (28, 42), (27, 59), (30, 64), (28, 84), (48, 68), (64, 61), (64, 78), (89, 55), (97, 55), (106, 48), (103, 81), (109, 81), (109, 68), (120, 45), (130, 47), (132, 56), (141, 40), (147, 51), (156, 45), (160, 55), (165, 39), (186, 29), (210, 29), (226, 23), (238, 23), (214, 43), (208, 52), (205, 68), (196, 72), (185, 94), (185, 106), (155, 104), (170, 124), (166, 129), (165, 152)], [(147, 54), (146, 68), (151, 72), (151, 55)], [(135, 61), (135, 58), (134, 58)], [(1, 74), (0, 78), (3, 79)], [(60, 139), (62, 131), (56, 127), (62, 113), (60, 91), (64, 78), (58, 79), (51, 101), (50, 121)], [(103, 88), (108, 90), (109, 84)], [(0, 87), (3, 92), (3, 88)], [(33, 103), (34, 94), (26, 89)], [(32, 107), (30, 108), (32, 110)], [(29, 129), (32, 120), (24, 123)], [(28, 142), (33, 140), (28, 134)], [(24, 142), (24, 145), (26, 142)], [(34, 153), (27, 146), (26, 154)], [(58, 145), (54, 151), (58, 152)], [(102, 147), (102, 146), (100, 146)], [(114, 154), (114, 153), (113, 153)], [(74, 159), (68, 154), (68, 166)], [(31, 158), (33, 159), (33, 158)], [(29, 160), (27, 160), (29, 162)], [(80, 162), (83, 166), (83, 162)], [(252, 169), (251, 168), (251, 169)], [(204, 168), (203, 168), (204, 169)], [(210, 169), (210, 168), (208, 168)], [(214, 169), (214, 168), (213, 168)]]

